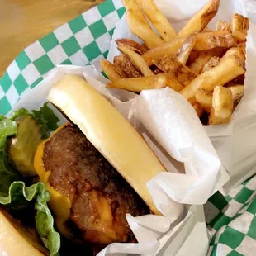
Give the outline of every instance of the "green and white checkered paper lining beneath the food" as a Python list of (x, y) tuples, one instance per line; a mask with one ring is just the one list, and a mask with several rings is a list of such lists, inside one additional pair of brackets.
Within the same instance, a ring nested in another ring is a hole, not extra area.
[[(125, 13), (121, 0), (107, 0), (26, 47), (0, 79), (0, 114), (6, 115), (57, 64), (85, 66), (106, 59), (116, 23)], [(216, 192), (205, 208), (208, 255), (256, 255), (256, 177), (226, 197)]]

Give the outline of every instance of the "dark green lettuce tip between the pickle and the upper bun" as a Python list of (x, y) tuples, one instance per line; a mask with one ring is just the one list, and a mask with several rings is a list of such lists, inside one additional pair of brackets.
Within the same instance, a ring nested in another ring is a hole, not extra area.
[(50, 131), (58, 128), (57, 123), (59, 122), (59, 118), (55, 116), (54, 111), (47, 106), (47, 103), (45, 103), (43, 107), (40, 107), (39, 111), (33, 110), (32, 114), (41, 127), (43, 139), (50, 136)]

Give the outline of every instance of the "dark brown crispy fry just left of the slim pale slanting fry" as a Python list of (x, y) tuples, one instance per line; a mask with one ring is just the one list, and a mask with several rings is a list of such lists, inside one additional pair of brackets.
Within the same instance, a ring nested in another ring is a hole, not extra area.
[(117, 70), (121, 69), (126, 74), (126, 78), (139, 78), (141, 73), (130, 62), (130, 59), (126, 55), (116, 56), (114, 58), (114, 65)]

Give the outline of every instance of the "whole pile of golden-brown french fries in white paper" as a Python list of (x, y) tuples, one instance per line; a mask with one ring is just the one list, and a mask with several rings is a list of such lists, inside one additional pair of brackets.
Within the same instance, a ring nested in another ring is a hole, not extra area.
[(169, 87), (192, 104), (204, 124), (228, 123), (244, 96), (249, 19), (234, 14), (230, 23), (218, 21), (211, 30), (207, 25), (220, 0), (210, 0), (177, 33), (154, 0), (123, 2), (130, 31), (144, 44), (116, 40), (121, 55), (113, 64), (101, 62), (111, 80), (107, 87), (138, 93)]

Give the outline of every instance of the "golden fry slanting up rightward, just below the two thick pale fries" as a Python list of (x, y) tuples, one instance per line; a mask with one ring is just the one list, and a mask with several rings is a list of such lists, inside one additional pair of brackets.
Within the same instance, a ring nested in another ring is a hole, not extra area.
[(162, 59), (164, 55), (173, 56), (178, 48), (187, 39), (187, 36), (176, 37), (175, 39), (151, 49), (143, 55), (143, 59), (150, 66), (154, 61)]

